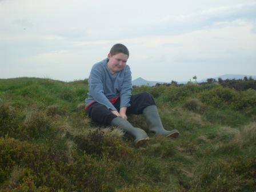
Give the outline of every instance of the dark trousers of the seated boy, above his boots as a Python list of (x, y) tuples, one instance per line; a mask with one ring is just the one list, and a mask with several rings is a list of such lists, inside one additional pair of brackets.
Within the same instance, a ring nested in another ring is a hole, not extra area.
[[(114, 107), (120, 110), (120, 99), (114, 104)], [(147, 92), (131, 95), (130, 107), (127, 107), (126, 114), (142, 114), (143, 109), (148, 106), (155, 105), (154, 98)], [(97, 102), (93, 103), (88, 109), (86, 109), (89, 117), (99, 125), (110, 126), (111, 121), (117, 116), (111, 113), (111, 110), (107, 109), (105, 105)]]

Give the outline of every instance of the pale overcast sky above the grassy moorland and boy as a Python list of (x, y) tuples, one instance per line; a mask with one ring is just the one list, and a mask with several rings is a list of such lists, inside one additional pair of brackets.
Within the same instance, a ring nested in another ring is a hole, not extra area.
[(256, 1), (0, 0), (0, 78), (89, 77), (115, 43), (133, 79), (256, 75)]

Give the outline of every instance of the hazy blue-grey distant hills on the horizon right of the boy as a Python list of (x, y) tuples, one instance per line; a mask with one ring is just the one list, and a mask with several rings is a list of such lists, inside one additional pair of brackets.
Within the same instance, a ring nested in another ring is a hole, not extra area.
[[(218, 77), (214, 77), (213, 79), (216, 79), (216, 81), (218, 81), (218, 78), (222, 78), (223, 80), (225, 79), (243, 79), (244, 77), (251, 77), (253, 79), (256, 79), (256, 75), (236, 75), (236, 74), (225, 74), (225, 75), (221, 75)], [(209, 77), (211, 78), (211, 77)], [(199, 80), (197, 82), (201, 83), (201, 82), (206, 82), (207, 79), (202, 79)], [(178, 84), (186, 84), (188, 81), (182, 81), (182, 82), (177, 82)], [(157, 83), (170, 83), (170, 82), (161, 82), (161, 81), (147, 81), (146, 79), (143, 79), (141, 77), (134, 79), (132, 81), (133, 86), (142, 86), (142, 85), (146, 85), (146, 86), (154, 86)]]

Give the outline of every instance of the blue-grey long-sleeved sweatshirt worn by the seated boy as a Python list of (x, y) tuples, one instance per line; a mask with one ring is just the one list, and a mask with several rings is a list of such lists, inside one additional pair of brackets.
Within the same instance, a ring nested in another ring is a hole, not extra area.
[(107, 109), (117, 110), (109, 99), (120, 97), (120, 108), (130, 106), (131, 71), (128, 65), (118, 73), (111, 74), (107, 67), (108, 59), (95, 63), (89, 77), (89, 93), (85, 99), (86, 105), (96, 101), (105, 105)]

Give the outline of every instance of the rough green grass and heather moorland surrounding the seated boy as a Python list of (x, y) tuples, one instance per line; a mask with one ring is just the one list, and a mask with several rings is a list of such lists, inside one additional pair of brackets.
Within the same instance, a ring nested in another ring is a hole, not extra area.
[[(0, 191), (255, 191), (256, 91), (219, 83), (151, 93), (177, 139), (145, 146), (83, 110), (87, 81), (0, 79)], [(147, 129), (142, 115), (130, 115)]]

